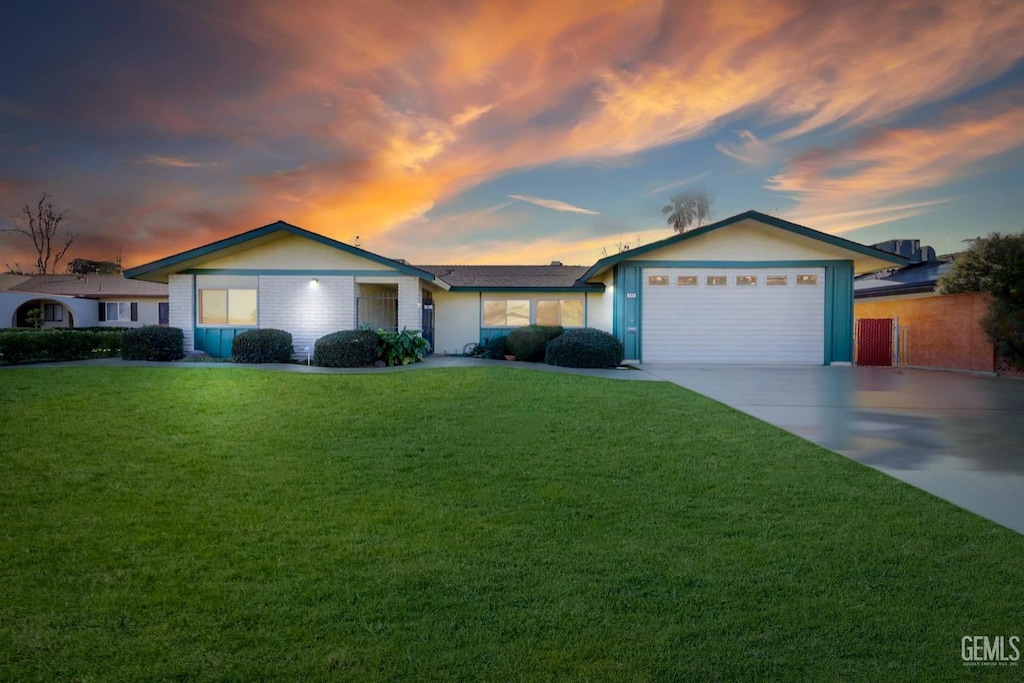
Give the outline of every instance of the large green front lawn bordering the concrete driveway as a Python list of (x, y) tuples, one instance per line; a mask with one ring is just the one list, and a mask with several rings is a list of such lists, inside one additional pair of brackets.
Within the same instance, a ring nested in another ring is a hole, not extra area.
[(678, 387), (0, 371), (6, 680), (1019, 679), (1024, 537)]

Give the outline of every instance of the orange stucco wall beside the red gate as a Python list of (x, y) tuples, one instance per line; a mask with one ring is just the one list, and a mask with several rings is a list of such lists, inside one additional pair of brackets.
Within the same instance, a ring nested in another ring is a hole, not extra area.
[(992, 345), (980, 325), (990, 302), (987, 294), (861, 299), (854, 302), (854, 316), (898, 317), (907, 328), (908, 366), (991, 372)]

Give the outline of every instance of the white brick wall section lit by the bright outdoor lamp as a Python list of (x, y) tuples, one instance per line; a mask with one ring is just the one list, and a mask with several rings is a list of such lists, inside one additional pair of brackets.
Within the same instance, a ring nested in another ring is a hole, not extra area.
[(259, 276), (259, 326), (291, 332), (297, 354), (304, 355), (306, 346), (328, 333), (355, 328), (354, 279), (316, 279), (318, 283), (311, 275)]

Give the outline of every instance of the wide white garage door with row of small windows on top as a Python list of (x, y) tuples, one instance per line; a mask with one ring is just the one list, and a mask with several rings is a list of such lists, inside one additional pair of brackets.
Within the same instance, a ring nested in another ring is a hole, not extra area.
[(824, 362), (824, 268), (644, 268), (644, 362)]

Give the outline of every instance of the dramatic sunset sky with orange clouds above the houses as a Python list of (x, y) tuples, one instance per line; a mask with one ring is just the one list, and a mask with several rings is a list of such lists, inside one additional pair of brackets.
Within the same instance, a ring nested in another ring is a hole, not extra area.
[(1024, 229), (1021, 0), (15, 1), (0, 32), (0, 220), (49, 193), (72, 256), (282, 219), (587, 264), (695, 186), (868, 244)]

